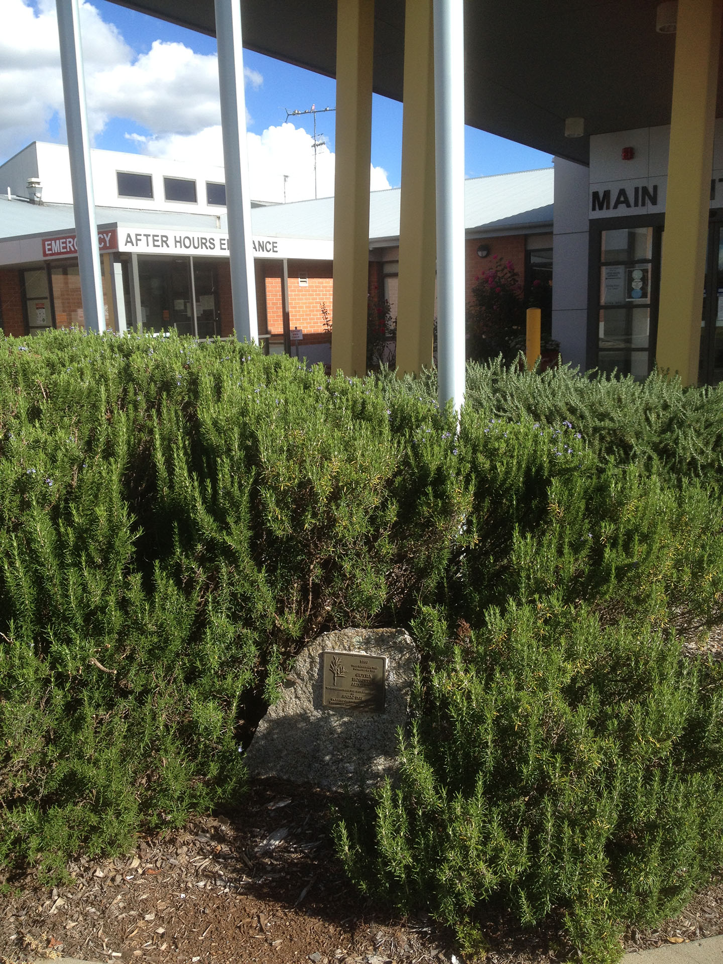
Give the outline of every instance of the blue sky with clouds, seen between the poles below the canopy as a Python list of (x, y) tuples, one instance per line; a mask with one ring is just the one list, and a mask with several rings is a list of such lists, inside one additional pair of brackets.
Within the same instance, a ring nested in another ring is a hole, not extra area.
[[(53, 43), (57, 46), (54, 0), (3, 0), (4, 8), (6, 5), (9, 29), (5, 38), (0, 38), (0, 161), (34, 139), (64, 140), (53, 50)], [(216, 41), (108, 0), (85, 0), (81, 13), (95, 147), (177, 159), (218, 156)], [(42, 71), (38, 69), (39, 53)], [(4, 63), (10, 67), (4, 68)], [(282, 127), (286, 110), (308, 110), (312, 104), (334, 107), (335, 82), (252, 51), (245, 51), (245, 67), (252, 191), (255, 165), (255, 195), (272, 200), (270, 195), (281, 190), (281, 172), (312, 165), (311, 117), (292, 119), (295, 130)], [(4, 116), (3, 94), (14, 92), (17, 101), (16, 92), (26, 90), (23, 69), (28, 71), (27, 103), (15, 103), (12, 116), (6, 106)], [(375, 94), (373, 187), (399, 184), (401, 130), (402, 105)], [(317, 157), (319, 193), (328, 194), (334, 179), (334, 113), (317, 117), (317, 133), (325, 136), (329, 146), (328, 156)], [(468, 176), (524, 171), (550, 163), (549, 154), (473, 128), (467, 130)], [(312, 196), (312, 175), (299, 174), (297, 181), (290, 180), (292, 196), (308, 196), (309, 190)]]

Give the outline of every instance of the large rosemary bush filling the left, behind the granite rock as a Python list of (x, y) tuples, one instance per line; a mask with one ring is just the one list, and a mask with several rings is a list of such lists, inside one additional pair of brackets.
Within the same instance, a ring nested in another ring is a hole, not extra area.
[(8, 865), (237, 800), (288, 658), (411, 618), (465, 515), (435, 407), (235, 342), (1, 339), (0, 413)]

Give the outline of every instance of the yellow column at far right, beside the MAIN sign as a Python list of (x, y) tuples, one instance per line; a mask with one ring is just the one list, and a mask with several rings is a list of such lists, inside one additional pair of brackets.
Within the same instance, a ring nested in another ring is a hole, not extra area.
[(721, 0), (679, 0), (656, 362), (698, 381)]

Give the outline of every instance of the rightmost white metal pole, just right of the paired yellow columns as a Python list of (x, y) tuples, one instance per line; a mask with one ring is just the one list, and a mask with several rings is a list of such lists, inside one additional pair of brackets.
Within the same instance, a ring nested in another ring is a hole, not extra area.
[(463, 0), (434, 0), (439, 399), (465, 400), (465, 27)]

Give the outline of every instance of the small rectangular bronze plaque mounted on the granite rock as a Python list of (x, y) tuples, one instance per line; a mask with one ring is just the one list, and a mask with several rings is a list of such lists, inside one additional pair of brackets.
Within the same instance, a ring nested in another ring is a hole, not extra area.
[(384, 712), (386, 656), (325, 650), (321, 659), (324, 674), (322, 706)]

